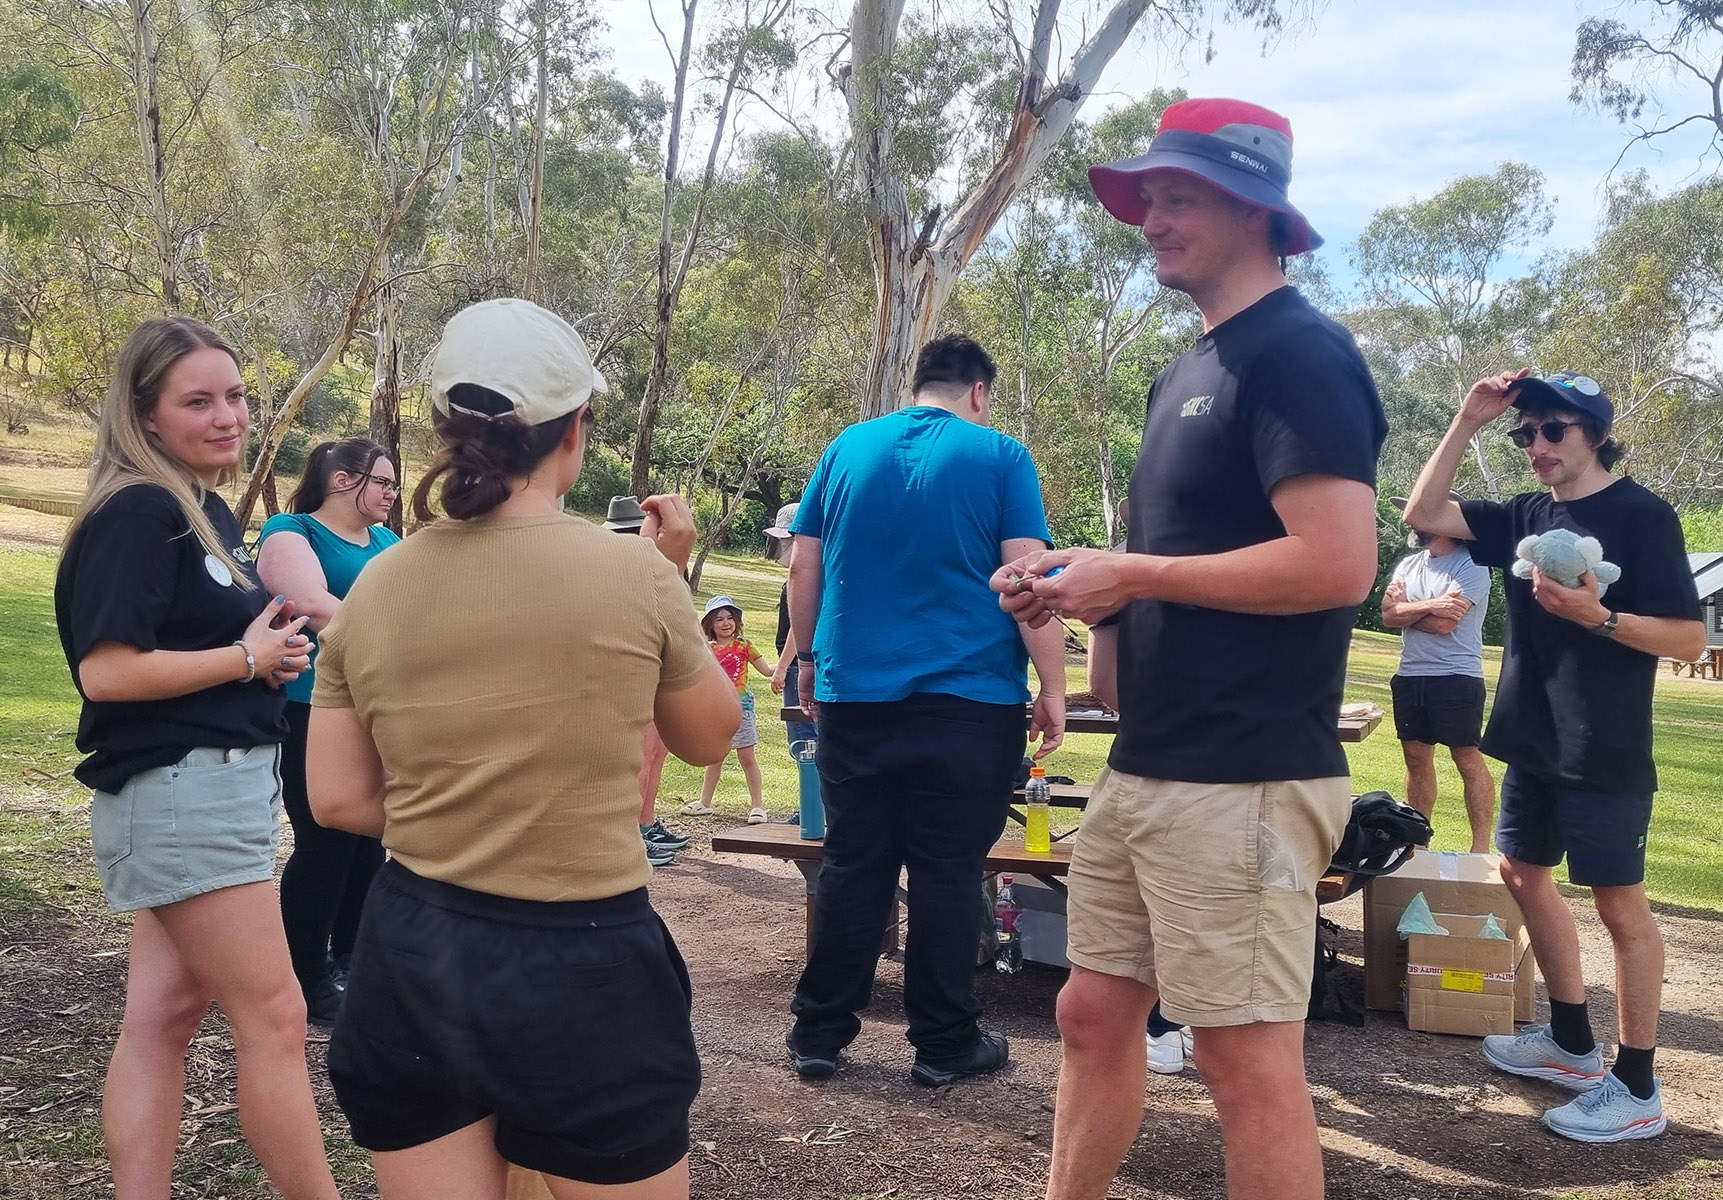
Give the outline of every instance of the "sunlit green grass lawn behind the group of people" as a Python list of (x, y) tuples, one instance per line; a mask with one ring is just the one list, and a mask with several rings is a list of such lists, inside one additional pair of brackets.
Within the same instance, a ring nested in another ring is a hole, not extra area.
[[(772, 657), (777, 626), (777, 591), (782, 567), (748, 553), (713, 553), (701, 579), (700, 602), (725, 591), (744, 612), (748, 636)], [(0, 550), (0, 784), (9, 791), (28, 788), (72, 800), (76, 783), (69, 776), (78, 760), (72, 734), (78, 724), (78, 697), (53, 628), (53, 555), (36, 550)], [(1380, 633), (1358, 633), (1347, 662), (1347, 700), (1373, 700), (1389, 707), (1389, 676), (1399, 660), (1399, 640)], [(1485, 652), (1485, 676), (1494, 690), (1501, 666), (1497, 650)], [(796, 797), (796, 774), (784, 741), (779, 705), (763, 676), (751, 683), (760, 703), (760, 767), (765, 776), (765, 800), (774, 816), (789, 810)], [(1080, 690), (1082, 667), (1070, 667), (1070, 688)], [(1716, 764), (1723, 762), (1723, 684), (1658, 676), (1656, 757), (1663, 791), (1652, 822), (1647, 850), (1647, 888), (1652, 898), (1694, 909), (1723, 912), (1723, 822), (1716, 819), (1713, 783)], [(1073, 734), (1053, 755), (1049, 767), (1080, 781), (1094, 779), (1106, 762), (1108, 738)], [(1392, 721), (1368, 741), (1347, 747), (1353, 783), (1359, 791), (1382, 788), (1404, 793), (1404, 766)], [(1499, 764), (1492, 764), (1499, 767)], [(1497, 771), (1499, 774), (1499, 771)], [(1435, 809), (1435, 847), (1463, 850), (1468, 845), (1459, 776), (1446, 755), (1437, 757), (1439, 798)], [(672, 759), (665, 766), (660, 790), (660, 814), (675, 810), (700, 795), (701, 771)], [(718, 784), (718, 807), (729, 816), (743, 816), (748, 793), (741, 769), (731, 759)], [(33, 805), (29, 816), (0, 809), (0, 845), (17, 847), (34, 838), (84, 836), (72, 822), (76, 803), (60, 817), (43, 816)], [(1056, 817), (1061, 814), (1054, 814)], [(1063, 814), (1075, 819), (1075, 814)], [(10, 903), (28, 903), (16, 891), (16, 878), (0, 872), (0, 910)], [(3, 914), (0, 914), (3, 922)]]

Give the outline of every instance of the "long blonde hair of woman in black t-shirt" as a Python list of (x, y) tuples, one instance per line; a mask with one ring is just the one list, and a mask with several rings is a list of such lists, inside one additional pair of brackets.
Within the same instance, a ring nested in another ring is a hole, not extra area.
[[(71, 529), (65, 531), (67, 545), (78, 528), (91, 512), (114, 498), (121, 488), (134, 483), (153, 483), (165, 488), (191, 526), (193, 536), (203, 548), (227, 562), (227, 547), (215, 534), (215, 526), (203, 514), (203, 484), (186, 464), (162, 448), (160, 440), (145, 428), (145, 421), (162, 398), (162, 379), (176, 362), (193, 350), (221, 350), (233, 364), (239, 366), (239, 355), (229, 341), (210, 329), (202, 321), (191, 317), (152, 317), (133, 329), (121, 347), (119, 362), (114, 364), (114, 379), (109, 383), (107, 397), (102, 402), (102, 417), (96, 421), (96, 453), (90, 462), (90, 481), (84, 484), (84, 498), (78, 505)], [(221, 483), (229, 478), (222, 471)], [(243, 571), (236, 571), (233, 581), (253, 590)]]

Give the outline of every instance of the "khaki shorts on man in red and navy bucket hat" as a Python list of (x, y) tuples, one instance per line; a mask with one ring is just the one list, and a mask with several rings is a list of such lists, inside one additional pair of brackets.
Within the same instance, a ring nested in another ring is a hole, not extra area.
[(1103, 771), (1070, 869), (1070, 960), (1160, 991), (1168, 1021), (1303, 1021), (1316, 881), (1346, 776), (1173, 783)]

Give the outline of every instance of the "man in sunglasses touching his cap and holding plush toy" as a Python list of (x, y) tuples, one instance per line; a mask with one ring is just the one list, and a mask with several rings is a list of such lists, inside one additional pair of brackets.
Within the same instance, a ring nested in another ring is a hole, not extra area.
[[(1508, 438), (1547, 491), (1506, 503), (1449, 498), (1466, 447), (1515, 409)], [(1484, 752), (1508, 764), (1496, 845), (1549, 986), (1549, 1024), (1484, 1040), (1492, 1066), (1578, 1091), (1544, 1124), (1577, 1141), (1651, 1138), (1664, 1129), (1652, 1074), (1663, 1000), (1663, 934), (1645, 900), (1645, 833), (1658, 771), (1651, 697), (1658, 659), (1695, 659), (1706, 643), (1682, 524), (1656, 495), (1611, 474), (1623, 455), (1614, 405), (1595, 379), (1566, 371), (1497, 374), (1471, 384), (1406, 505), (1406, 522), (1471, 543), (1502, 567), (1508, 645)], [(1587, 572), (1564, 586), (1515, 576), (1521, 538), (1571, 529), (1621, 567), (1606, 597)], [(1585, 1009), (1573, 914), (1552, 869), (1592, 890), (1616, 957), (1620, 1047), (1604, 1071)]]

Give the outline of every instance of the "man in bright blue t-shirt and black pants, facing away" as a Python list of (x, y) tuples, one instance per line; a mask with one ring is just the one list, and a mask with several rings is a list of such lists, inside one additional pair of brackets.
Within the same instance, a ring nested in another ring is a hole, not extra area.
[(789, 526), (798, 688), (818, 716), (825, 802), (786, 1038), (806, 1078), (832, 1074), (862, 1029), (905, 867), (910, 1076), (937, 1086), (1006, 1062), (1005, 1036), (977, 1024), (982, 864), (1023, 757), (1029, 659), (1036, 757), (1065, 736), (1065, 640), (1058, 626), (1020, 631), (987, 586), (999, 564), (1051, 541), (1029, 450), (987, 428), (992, 378), (973, 340), (929, 341), (913, 403), (837, 434)]

